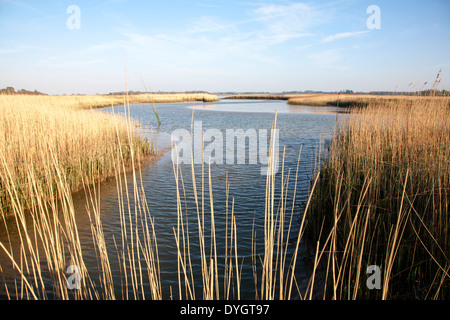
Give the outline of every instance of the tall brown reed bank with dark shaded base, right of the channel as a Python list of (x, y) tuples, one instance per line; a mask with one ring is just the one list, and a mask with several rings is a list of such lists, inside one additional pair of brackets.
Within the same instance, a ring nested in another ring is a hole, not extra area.
[(448, 98), (377, 99), (339, 127), (306, 228), (327, 297), (450, 297), (449, 119)]

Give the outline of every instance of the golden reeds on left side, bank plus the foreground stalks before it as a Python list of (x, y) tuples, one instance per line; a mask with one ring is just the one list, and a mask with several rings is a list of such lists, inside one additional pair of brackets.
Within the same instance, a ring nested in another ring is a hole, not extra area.
[[(129, 116), (81, 110), (78, 99), (0, 98), (0, 219), (8, 239), (0, 249), (11, 262), (1, 268), (15, 283), (10, 288), (6, 281), (4, 294), (13, 299), (113, 298), (95, 185), (109, 177), (120, 182), (155, 149), (139, 138)], [(72, 198), (80, 189), (88, 200), (100, 284), (90, 278), (81, 250)], [(128, 190), (120, 192), (128, 196)], [(81, 290), (68, 288), (66, 271), (72, 265), (78, 268)]]

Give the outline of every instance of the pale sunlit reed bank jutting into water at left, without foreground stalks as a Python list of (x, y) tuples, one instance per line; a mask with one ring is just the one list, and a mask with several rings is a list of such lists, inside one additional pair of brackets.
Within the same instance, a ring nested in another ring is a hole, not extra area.
[(52, 197), (58, 171), (64, 173), (68, 190), (77, 191), (87, 176), (96, 180), (114, 176), (113, 161), (119, 151), (130, 162), (130, 143), (136, 158), (155, 152), (149, 141), (137, 137), (134, 123), (81, 110), (99, 101), (95, 97), (0, 96), (2, 215), (14, 211), (16, 202), (31, 207), (36, 196)]

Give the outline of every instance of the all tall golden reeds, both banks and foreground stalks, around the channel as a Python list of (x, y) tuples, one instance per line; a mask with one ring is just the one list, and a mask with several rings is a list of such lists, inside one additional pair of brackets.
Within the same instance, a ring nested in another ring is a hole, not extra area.
[[(164, 297), (158, 230), (140, 175), (146, 144), (135, 135), (130, 100), (125, 98), (126, 118), (118, 119), (79, 107), (33, 107), (25, 100), (20, 105), (18, 98), (3, 98), (9, 102), (2, 104), (2, 116), (7, 117), (0, 122), (5, 128), (0, 149), (2, 201), (7, 199), (3, 206), (9, 206), (13, 214), (8, 223), (2, 221), (2, 232), (10, 241), (0, 242), (0, 254), (10, 263), (0, 265), (0, 273), (2, 277), (12, 274), (14, 279), (4, 282), (2, 295), (10, 299), (240, 299), (242, 258), (234, 199), (228, 198), (227, 184), (226, 210), (220, 213), (226, 216), (226, 229), (225, 234), (217, 234), (214, 173), (209, 165), (202, 165), (200, 181), (194, 165), (189, 169), (197, 217), (193, 228), (183, 205), (182, 168), (173, 164), (178, 288), (171, 288), (170, 297)], [(290, 198), (291, 168), (284, 167), (284, 152), (277, 156), (271, 143), (263, 252), (256, 252), (256, 237), (252, 243), (255, 298), (314, 299), (318, 293), (324, 299), (448, 298), (449, 113), (448, 100), (431, 98), (395, 103), (379, 99), (354, 109), (337, 127), (329, 157), (320, 161), (313, 175), (302, 212), (294, 205), (288, 209), (288, 201), (295, 203), (299, 161)], [(86, 138), (81, 139), (84, 134)], [(81, 146), (69, 143), (78, 139)], [(112, 151), (95, 145), (104, 147), (106, 142), (113, 145)], [(80, 150), (89, 152), (78, 157)], [(76, 170), (68, 168), (85, 163), (86, 154), (95, 161), (86, 165), (84, 173), (74, 175)], [(15, 157), (10, 159), (11, 155)], [(107, 159), (105, 168), (99, 164), (99, 155)], [(273, 174), (279, 160), (281, 172)], [(112, 249), (106, 245), (99, 201), (104, 172), (112, 172), (115, 178), (120, 215), (120, 232), (114, 235)], [(80, 186), (86, 196), (96, 270), (86, 267), (73, 185)], [(299, 229), (292, 226), (296, 218)], [(224, 254), (217, 251), (220, 238), (225, 239)], [(20, 245), (13, 246), (11, 241)], [(193, 271), (193, 241), (198, 242), (200, 274)], [(300, 257), (299, 251), (305, 245), (313, 251), (311, 277), (303, 286), (295, 271), (299, 259), (307, 258)], [(119, 262), (119, 281), (113, 277), (117, 270), (112, 259)], [(79, 268), (80, 289), (68, 288), (69, 265)], [(379, 290), (366, 285), (370, 265), (382, 270)]]

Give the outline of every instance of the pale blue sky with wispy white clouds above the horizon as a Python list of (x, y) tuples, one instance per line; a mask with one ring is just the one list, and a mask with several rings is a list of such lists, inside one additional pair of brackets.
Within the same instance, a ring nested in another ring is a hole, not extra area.
[[(450, 89), (450, 1), (0, 0), (0, 88)], [(425, 84), (426, 83), (426, 84)]]

